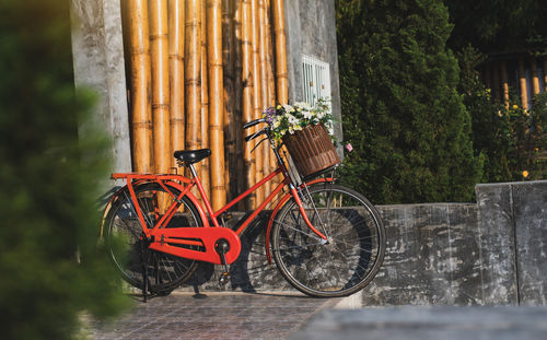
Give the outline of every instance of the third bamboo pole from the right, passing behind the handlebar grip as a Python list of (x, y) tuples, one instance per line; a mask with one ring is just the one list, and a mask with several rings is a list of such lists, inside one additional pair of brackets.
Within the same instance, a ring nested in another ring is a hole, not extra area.
[[(253, 48), (253, 119), (260, 118), (261, 114), (261, 79), (260, 79), (260, 36), (258, 32), (258, 5), (257, 0), (251, 1), (251, 42)], [(255, 127), (253, 131), (258, 131), (259, 127)], [(259, 139), (256, 140), (256, 143), (259, 142)], [(255, 144), (256, 144), (255, 143)], [(255, 159), (255, 171), (256, 178), (255, 180), (259, 180), (264, 178), (264, 153), (260, 146), (255, 149), (254, 152)], [(260, 203), (264, 201), (264, 187), (259, 187), (256, 189), (256, 201)]]

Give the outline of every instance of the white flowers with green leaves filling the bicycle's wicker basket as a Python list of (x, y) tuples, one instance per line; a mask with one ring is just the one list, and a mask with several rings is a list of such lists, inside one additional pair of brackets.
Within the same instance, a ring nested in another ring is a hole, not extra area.
[(333, 112), (330, 103), (324, 98), (314, 106), (307, 103), (277, 105), (264, 110), (263, 116), (271, 124), (274, 139), (279, 142), (287, 133), (294, 134), (311, 125), (323, 124), (333, 136)]

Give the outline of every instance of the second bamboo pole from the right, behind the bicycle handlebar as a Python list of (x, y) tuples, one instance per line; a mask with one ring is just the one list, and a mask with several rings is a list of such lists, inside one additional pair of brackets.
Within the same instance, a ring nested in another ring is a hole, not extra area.
[[(266, 52), (267, 52), (267, 26), (266, 26), (266, 1), (258, 0), (258, 36), (260, 44), (259, 48), (259, 70), (260, 70), (260, 107), (259, 109), (265, 109), (268, 106), (268, 71), (266, 68)], [(259, 113), (259, 116), (261, 114)], [(270, 173), (270, 148), (268, 142), (263, 143), (263, 177), (269, 175)], [(264, 196), (267, 197), (271, 192), (271, 183), (268, 181), (264, 185)]]

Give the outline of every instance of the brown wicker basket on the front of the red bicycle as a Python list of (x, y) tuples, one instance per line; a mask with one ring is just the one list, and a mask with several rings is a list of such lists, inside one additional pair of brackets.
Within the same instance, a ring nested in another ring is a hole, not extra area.
[(313, 177), (340, 163), (323, 124), (309, 126), (294, 134), (286, 134), (283, 142), (302, 177)]

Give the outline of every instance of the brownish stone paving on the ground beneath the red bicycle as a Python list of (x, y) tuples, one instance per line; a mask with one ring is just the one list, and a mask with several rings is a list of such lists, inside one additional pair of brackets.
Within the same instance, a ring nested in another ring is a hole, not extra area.
[[(199, 296), (196, 297), (196, 296)], [(311, 316), (340, 298), (311, 298), (296, 293), (175, 292), (137, 298), (120, 319), (106, 324), (86, 319), (95, 340), (286, 339)]]

